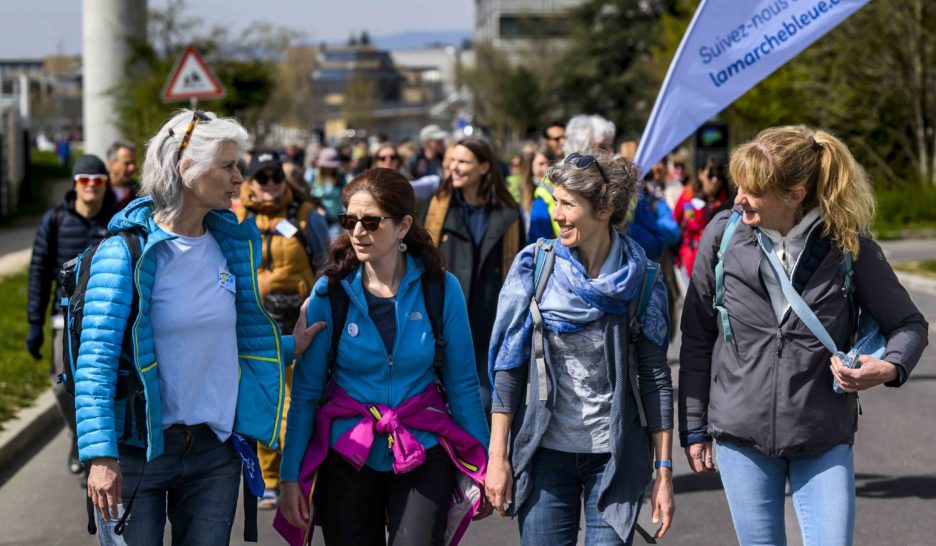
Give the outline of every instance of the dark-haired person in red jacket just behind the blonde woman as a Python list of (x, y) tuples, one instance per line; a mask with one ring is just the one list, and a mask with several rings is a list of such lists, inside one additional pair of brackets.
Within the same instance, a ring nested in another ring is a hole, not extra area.
[(692, 275), (705, 226), (716, 214), (730, 209), (731, 203), (728, 169), (722, 161), (710, 157), (699, 169), (698, 176), (686, 185), (673, 208), (673, 219), (681, 230), (675, 263), (683, 279)]

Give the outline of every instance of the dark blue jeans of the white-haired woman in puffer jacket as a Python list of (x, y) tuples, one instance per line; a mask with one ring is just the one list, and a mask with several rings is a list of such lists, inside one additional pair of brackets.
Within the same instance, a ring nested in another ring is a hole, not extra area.
[(239, 456), (207, 425), (174, 425), (163, 438), (163, 454), (145, 467), (145, 451), (121, 446), (124, 507), (141, 472), (143, 481), (122, 536), (113, 534), (114, 521), (101, 522), (97, 514), (101, 545), (162, 546), (168, 516), (173, 545), (227, 546), (240, 489)]

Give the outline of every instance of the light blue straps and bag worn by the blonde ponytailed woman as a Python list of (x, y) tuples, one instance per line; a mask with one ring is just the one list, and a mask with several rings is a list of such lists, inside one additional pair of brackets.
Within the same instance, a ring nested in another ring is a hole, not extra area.
[[(731, 217), (725, 225), (725, 232), (722, 235), (721, 244), (718, 247), (718, 262), (715, 265), (714, 307), (718, 310), (718, 314), (721, 318), (722, 332), (726, 342), (732, 341), (734, 335), (731, 332), (731, 325), (728, 322), (728, 310), (725, 309), (725, 252), (728, 251), (731, 238), (734, 236), (734, 232), (740, 220), (741, 214), (739, 212), (735, 211), (731, 213)], [(874, 358), (881, 358), (884, 356), (887, 339), (885, 339), (884, 335), (881, 333), (881, 329), (874, 320), (874, 317), (860, 307), (858, 309), (858, 328), (855, 335), (856, 342), (847, 352), (840, 351), (838, 347), (836, 347), (835, 341), (832, 340), (832, 336), (829, 335), (829, 332), (822, 326), (822, 323), (819, 322), (816, 314), (813, 313), (812, 309), (806, 305), (803, 298), (796, 292), (789, 277), (784, 273), (783, 266), (780, 264), (780, 260), (777, 259), (777, 255), (773, 251), (773, 244), (771, 244), (770, 238), (764, 235), (760, 230), (755, 231), (761, 251), (767, 258), (774, 276), (780, 282), (780, 288), (783, 290), (783, 295), (790, 304), (790, 309), (796, 313), (800, 320), (803, 321), (803, 324), (809, 328), (809, 331), (822, 342), (822, 345), (828, 349), (829, 352), (842, 359), (842, 362), (849, 368), (857, 368), (860, 365), (858, 357), (861, 355), (870, 355)], [(855, 291), (855, 271), (852, 262), (853, 258), (851, 253), (846, 252), (840, 264), (842, 276), (844, 277), (844, 290), (850, 300), (852, 300)], [(838, 394), (843, 394), (845, 392), (835, 380), (832, 381), (832, 388)]]

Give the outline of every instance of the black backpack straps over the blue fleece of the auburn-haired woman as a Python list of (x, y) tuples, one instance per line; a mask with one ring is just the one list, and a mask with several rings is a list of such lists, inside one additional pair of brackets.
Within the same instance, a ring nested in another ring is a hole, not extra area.
[[(442, 336), (442, 314), (445, 304), (445, 275), (438, 279), (431, 279), (423, 274), (421, 278), (423, 301), (432, 325), (432, 335), (435, 337), (435, 354), (432, 357), (432, 367), (439, 378), (442, 387), (442, 364), (445, 362), (445, 338)], [(348, 320), (348, 294), (341, 288), (338, 281), (330, 280), (328, 283), (328, 302), (332, 310), (332, 339), (328, 350), (328, 375), (334, 373), (338, 359), (338, 341), (345, 330)]]

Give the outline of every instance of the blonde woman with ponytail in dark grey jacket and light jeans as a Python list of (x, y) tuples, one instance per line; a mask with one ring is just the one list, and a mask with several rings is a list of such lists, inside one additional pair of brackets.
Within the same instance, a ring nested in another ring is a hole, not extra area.
[[(786, 544), (788, 482), (806, 546), (851, 544), (857, 393), (902, 385), (928, 325), (869, 235), (874, 194), (839, 139), (767, 129), (734, 152), (730, 171), (735, 209), (705, 230), (683, 309), (680, 442), (695, 472), (715, 471), (718, 443), (742, 546)], [(771, 247), (783, 271), (771, 268)], [(858, 309), (870, 314), (887, 339), (882, 358), (846, 367), (790, 309), (778, 275), (839, 350), (854, 342)]]

